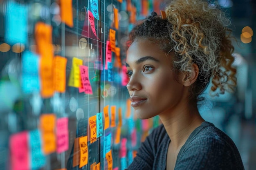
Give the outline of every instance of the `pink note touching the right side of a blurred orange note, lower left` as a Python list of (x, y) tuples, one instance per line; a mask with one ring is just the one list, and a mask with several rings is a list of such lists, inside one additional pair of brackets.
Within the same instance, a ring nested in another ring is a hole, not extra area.
[(68, 150), (68, 118), (57, 119), (57, 153)]

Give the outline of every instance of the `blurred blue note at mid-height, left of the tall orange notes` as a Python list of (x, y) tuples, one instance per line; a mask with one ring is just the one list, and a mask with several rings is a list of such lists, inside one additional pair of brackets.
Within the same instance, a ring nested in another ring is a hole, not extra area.
[(22, 90), (29, 94), (40, 91), (39, 56), (25, 51), (21, 57), (22, 63)]

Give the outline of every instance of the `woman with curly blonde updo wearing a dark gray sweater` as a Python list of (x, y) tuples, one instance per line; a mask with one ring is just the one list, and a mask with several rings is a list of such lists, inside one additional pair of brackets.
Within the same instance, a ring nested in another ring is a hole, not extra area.
[(173, 0), (166, 19), (153, 12), (131, 31), (127, 88), (140, 119), (162, 125), (141, 144), (128, 170), (243, 170), (234, 142), (198, 112), (200, 94), (234, 91), (228, 28), (215, 4)]

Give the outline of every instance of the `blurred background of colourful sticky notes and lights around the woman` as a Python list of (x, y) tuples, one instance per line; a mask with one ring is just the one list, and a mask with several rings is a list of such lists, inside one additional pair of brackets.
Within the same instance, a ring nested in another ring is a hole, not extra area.
[[(133, 114), (122, 45), (168, 2), (0, 0), (0, 170), (126, 168), (161, 122)], [(256, 1), (208, 2), (231, 18), (237, 88), (199, 110), (256, 170)]]

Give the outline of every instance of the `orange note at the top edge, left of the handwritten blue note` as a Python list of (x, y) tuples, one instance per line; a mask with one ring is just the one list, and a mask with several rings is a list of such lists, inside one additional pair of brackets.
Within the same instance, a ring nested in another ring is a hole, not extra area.
[(60, 0), (61, 2), (61, 21), (69, 27), (73, 27), (72, 0)]

